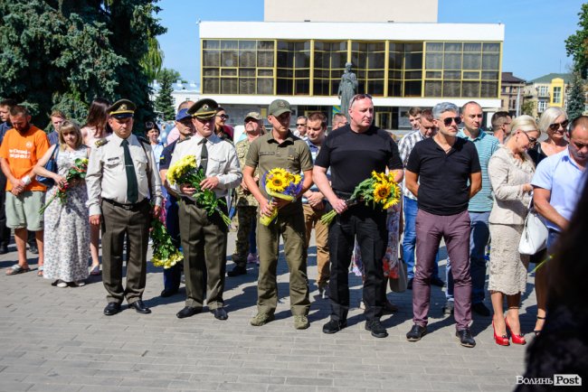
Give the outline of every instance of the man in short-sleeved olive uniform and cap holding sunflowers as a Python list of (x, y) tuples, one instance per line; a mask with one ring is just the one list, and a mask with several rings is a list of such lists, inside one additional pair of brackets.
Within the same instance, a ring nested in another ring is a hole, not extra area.
[[(300, 197), (312, 184), (312, 158), (308, 145), (289, 130), (291, 110), (289, 102), (276, 99), (268, 109), (268, 121), (272, 129), (253, 141), (243, 168), (247, 188), (260, 203), (260, 214), (270, 216), (274, 208), (278, 216), (269, 226), (257, 225), (257, 241), (260, 252), (260, 275), (257, 284), (258, 313), (251, 319), (251, 325), (261, 326), (274, 319), (278, 304), (278, 285), (276, 268), (278, 265), (278, 246), (280, 235), (284, 238), (284, 251), (289, 266), (290, 309), (294, 315), (297, 330), (308, 328), (308, 275), (307, 248), (304, 227), (304, 214)], [(292, 203), (269, 196), (263, 186), (255, 181), (255, 172), (266, 173), (280, 167), (290, 173), (304, 174), (302, 190), (298, 199)]]

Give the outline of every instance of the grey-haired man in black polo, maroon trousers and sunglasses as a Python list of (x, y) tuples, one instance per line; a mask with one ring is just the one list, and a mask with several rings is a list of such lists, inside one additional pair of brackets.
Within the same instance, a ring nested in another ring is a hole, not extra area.
[(431, 275), (441, 238), (451, 259), (454, 282), (456, 336), (464, 347), (474, 347), (469, 275), (468, 201), (482, 187), (476, 146), (457, 137), (459, 109), (441, 102), (432, 109), (439, 132), (414, 145), (406, 164), (406, 187), (418, 198), (416, 215), (416, 265), (413, 281), (413, 329), (408, 341), (427, 333)]

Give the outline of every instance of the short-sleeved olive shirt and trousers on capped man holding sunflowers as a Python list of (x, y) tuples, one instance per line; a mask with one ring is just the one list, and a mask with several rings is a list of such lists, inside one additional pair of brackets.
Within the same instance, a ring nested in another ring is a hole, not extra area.
[[(251, 143), (245, 163), (258, 170), (260, 177), (270, 169), (281, 167), (290, 173), (312, 169), (308, 145), (289, 132), (279, 144), (272, 135), (261, 135)], [(270, 199), (260, 182), (260, 191)], [(295, 316), (306, 316), (310, 308), (308, 299), (306, 231), (302, 203), (297, 200), (282, 207), (278, 217), (269, 226), (258, 224), (257, 243), (260, 255), (258, 280), (259, 313), (273, 314), (278, 303), (276, 269), (280, 245), (284, 238), (284, 253), (289, 266), (290, 309)]]

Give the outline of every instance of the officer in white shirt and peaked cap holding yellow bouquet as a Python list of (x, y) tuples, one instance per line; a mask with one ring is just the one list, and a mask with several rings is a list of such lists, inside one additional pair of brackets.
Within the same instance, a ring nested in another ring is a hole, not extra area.
[[(188, 109), (196, 133), (175, 145), (170, 167), (185, 155), (196, 156), (203, 168), (205, 179), (200, 182), (202, 189), (213, 190), (216, 197), (223, 199), (228, 190), (242, 181), (239, 160), (235, 147), (214, 135), (214, 116), (218, 104), (213, 99), (200, 99)], [(218, 320), (228, 315), (223, 306), (224, 274), (228, 228), (218, 213), (208, 216), (206, 210), (191, 197), (196, 189), (190, 184), (172, 186), (182, 197), (180, 202), (180, 237), (184, 251), (185, 307), (176, 316), (180, 319), (201, 313), (204, 303), (204, 287), (208, 289), (206, 303)], [(223, 206), (226, 213), (226, 206)], [(204, 275), (207, 283), (204, 285)]]

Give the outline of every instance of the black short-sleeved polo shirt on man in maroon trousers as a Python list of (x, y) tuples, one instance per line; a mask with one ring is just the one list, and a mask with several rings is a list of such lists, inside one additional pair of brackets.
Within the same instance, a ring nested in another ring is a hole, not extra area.
[(449, 154), (432, 137), (418, 142), (406, 170), (419, 175), (419, 209), (435, 215), (468, 210), (469, 174), (481, 172), (476, 145), (460, 137)]

